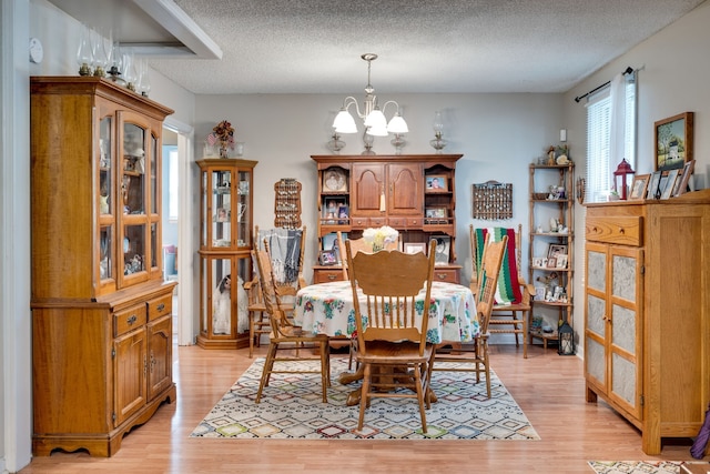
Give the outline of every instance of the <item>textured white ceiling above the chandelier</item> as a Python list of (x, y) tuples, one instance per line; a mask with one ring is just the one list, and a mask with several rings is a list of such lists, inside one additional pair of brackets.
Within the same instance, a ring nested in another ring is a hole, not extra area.
[(702, 1), (174, 0), (222, 59), (150, 63), (195, 93), (357, 92), (366, 52), (381, 93), (565, 92)]

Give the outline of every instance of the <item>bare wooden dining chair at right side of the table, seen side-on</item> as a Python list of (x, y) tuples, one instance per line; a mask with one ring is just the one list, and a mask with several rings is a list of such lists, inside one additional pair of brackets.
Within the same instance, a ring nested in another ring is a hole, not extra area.
[[(508, 236), (498, 242), (489, 242), (485, 238), (483, 260), (478, 271), (478, 289), (475, 292), (476, 313), (480, 324), (479, 334), (471, 343), (443, 343), (437, 345), (434, 354), (434, 371), (443, 372), (475, 372), (476, 383), (480, 382), (480, 374), (486, 376), (486, 393), (490, 399), (490, 361), (488, 355), (488, 324), (494, 306), (496, 285), (500, 273), (500, 264), (506, 253)], [(442, 365), (442, 362), (458, 362), (456, 367)]]

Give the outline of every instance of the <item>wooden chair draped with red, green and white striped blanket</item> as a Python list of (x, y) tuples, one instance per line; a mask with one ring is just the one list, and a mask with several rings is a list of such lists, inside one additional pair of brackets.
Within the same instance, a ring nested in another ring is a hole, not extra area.
[(470, 251), (473, 272), (470, 280), (471, 291), (478, 289), (478, 266), (481, 261), (485, 235), (493, 234), (493, 240), (499, 240), (507, 235), (507, 253), (500, 264), (496, 301), (490, 314), (491, 334), (514, 334), (515, 345), (520, 345), (523, 340), (523, 359), (528, 357), (528, 322), (532, 311), (531, 301), (535, 295), (535, 286), (526, 282), (520, 268), (523, 225), (518, 224), (517, 231), (513, 228), (474, 229), (469, 226)]

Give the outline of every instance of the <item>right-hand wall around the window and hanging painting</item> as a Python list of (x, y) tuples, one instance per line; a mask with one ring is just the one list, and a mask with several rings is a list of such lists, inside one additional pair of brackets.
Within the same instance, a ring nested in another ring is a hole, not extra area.
[[(622, 54), (565, 94), (568, 138), (576, 153), (577, 174), (586, 172), (586, 109), (574, 98), (611, 80), (627, 67), (638, 72), (638, 155), (639, 174), (653, 171), (653, 122), (682, 112), (694, 112), (697, 189), (710, 186), (710, 2), (704, 2), (673, 24)], [(618, 157), (616, 162), (620, 162)], [(584, 331), (584, 205), (577, 205), (575, 274), (575, 331)], [(584, 346), (578, 345), (584, 356)]]

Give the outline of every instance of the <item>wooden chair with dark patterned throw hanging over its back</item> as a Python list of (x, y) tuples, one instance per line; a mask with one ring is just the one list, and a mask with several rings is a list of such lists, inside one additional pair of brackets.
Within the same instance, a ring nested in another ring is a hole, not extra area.
[[(297, 261), (292, 259), (288, 272), (288, 278), (282, 278), (281, 281), (276, 280), (276, 291), (281, 296), (282, 309), (287, 313), (293, 312), (293, 299), (296, 292), (306, 285), (306, 281), (303, 276), (303, 255), (305, 251), (306, 241), (306, 226), (303, 229), (267, 229), (260, 231), (258, 225), (254, 226), (254, 238), (256, 244), (261, 248), (261, 244), (266, 238), (270, 245), (274, 242), (283, 241), (283, 246), (286, 252), (288, 246), (292, 248), (292, 255), (298, 255)], [(273, 248), (273, 245), (272, 245)], [(273, 265), (272, 265), (273, 266)], [(285, 274), (286, 272), (284, 272)], [(262, 290), (260, 288), (258, 278), (252, 279), (252, 281), (244, 284), (246, 294), (248, 296), (248, 356), (250, 359), (254, 354), (254, 346), (261, 345), (262, 334), (271, 333), (271, 320), (266, 313), (264, 301), (262, 300)]]

